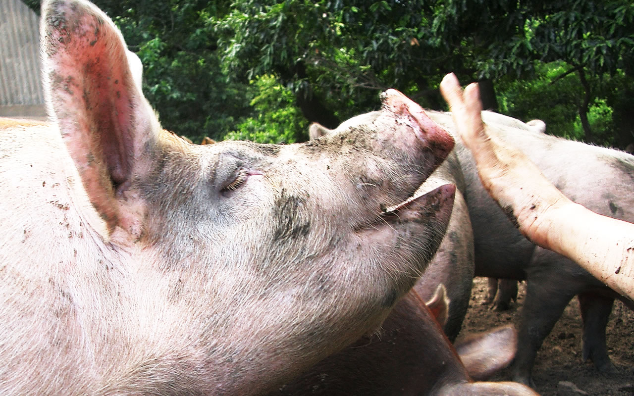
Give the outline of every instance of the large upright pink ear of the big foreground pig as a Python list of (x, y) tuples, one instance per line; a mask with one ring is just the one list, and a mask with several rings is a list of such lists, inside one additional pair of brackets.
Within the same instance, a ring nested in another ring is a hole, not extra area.
[(144, 209), (127, 188), (148, 172), (160, 130), (141, 93), (140, 61), (84, 0), (44, 1), (40, 29), (48, 113), (110, 233), (120, 226), (134, 238)]

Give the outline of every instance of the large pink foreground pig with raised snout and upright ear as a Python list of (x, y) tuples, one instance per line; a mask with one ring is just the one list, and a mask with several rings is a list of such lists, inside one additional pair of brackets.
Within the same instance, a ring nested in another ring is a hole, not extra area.
[(93, 4), (44, 1), (41, 42), (51, 120), (0, 122), (1, 395), (266, 393), (377, 329), (439, 246), (455, 188), (408, 198), (453, 139), (398, 91), (372, 129), (198, 146)]

